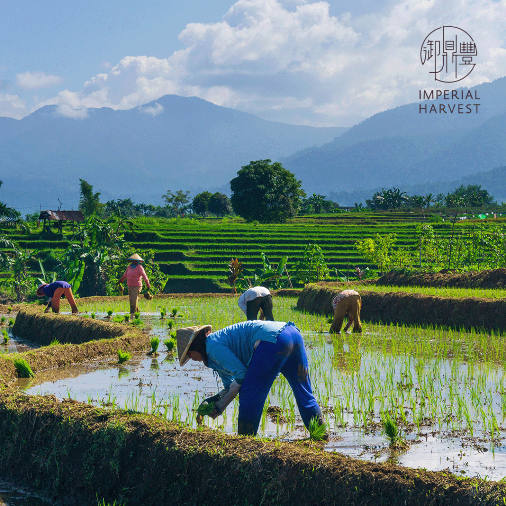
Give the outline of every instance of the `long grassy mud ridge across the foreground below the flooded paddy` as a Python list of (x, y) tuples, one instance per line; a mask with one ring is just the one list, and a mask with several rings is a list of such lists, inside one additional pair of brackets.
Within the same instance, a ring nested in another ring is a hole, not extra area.
[(54, 396), (0, 392), (0, 472), (63, 504), (486, 505), (506, 484), (459, 479), (107, 411)]

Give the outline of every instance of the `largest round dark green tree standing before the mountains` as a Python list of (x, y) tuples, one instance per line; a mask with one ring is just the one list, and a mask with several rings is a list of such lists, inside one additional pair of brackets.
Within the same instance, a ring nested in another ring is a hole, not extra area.
[(251, 161), (230, 182), (232, 207), (247, 221), (282, 223), (297, 216), (306, 196), (302, 181), (281, 163)]

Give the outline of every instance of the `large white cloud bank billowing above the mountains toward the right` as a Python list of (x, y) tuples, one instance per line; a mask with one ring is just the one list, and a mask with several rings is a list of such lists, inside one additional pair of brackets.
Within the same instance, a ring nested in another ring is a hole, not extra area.
[(170, 57), (125, 57), (81, 91), (38, 105), (82, 115), (89, 107), (128, 109), (177, 94), (279, 121), (350, 125), (416, 101), (420, 87), (434, 88), (419, 51), (443, 24), (469, 31), (477, 43), (479, 66), (466, 86), (506, 74), (505, 0), (388, 5), (383, 13), (338, 18), (326, 2), (239, 0), (221, 21), (188, 24), (179, 35), (186, 48)]

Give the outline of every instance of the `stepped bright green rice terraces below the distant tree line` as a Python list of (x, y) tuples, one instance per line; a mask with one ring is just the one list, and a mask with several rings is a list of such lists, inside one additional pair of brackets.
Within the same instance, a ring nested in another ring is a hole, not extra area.
[[(159, 264), (162, 273), (168, 276), (168, 282), (163, 289), (165, 293), (202, 293), (230, 289), (225, 282), (228, 264), (232, 258), (242, 262), (243, 268), (254, 270), (262, 266), (261, 252), (265, 253), (274, 264), (286, 256), (288, 258), (286, 267), (290, 274), (294, 266), (302, 260), (304, 248), (309, 243), (321, 247), (331, 279), (337, 279), (338, 275), (352, 279), (357, 267), (359, 269), (368, 267), (376, 272), (381, 269), (383, 266), (364, 258), (355, 247), (357, 241), (375, 235), (395, 234), (393, 249), (399, 252), (397, 267), (402, 268), (406, 265), (406, 259), (402, 256), (403, 251), (410, 252), (411, 262), (415, 266), (419, 263), (426, 265), (430, 260), (427, 258), (429, 254), (425, 246), (424, 251), (419, 248), (421, 232), (418, 230), (424, 224), (429, 224), (432, 228), (433, 249), (441, 250), (441, 258), (438, 259), (440, 265), (454, 268), (474, 264), (475, 269), (502, 267), (504, 219), (499, 216), (496, 220), (462, 218), (459, 217), (456, 221), (446, 218), (445, 221), (445, 218), (427, 218), (421, 213), (348, 212), (299, 217), (282, 225), (245, 223), (238, 218), (223, 220), (137, 218), (131, 221), (132, 226), (126, 227), (123, 224), (123, 230), (124, 239), (138, 251), (154, 252), (154, 261)], [(64, 228), (63, 236), (57, 233), (43, 234), (38, 230), (30, 234), (22, 234), (15, 230), (6, 230), (2, 233), (10, 240), (16, 241), (21, 249), (51, 250), (57, 253), (70, 244), (73, 232), (67, 227)], [(485, 250), (487, 247), (490, 248), (491, 241), (490, 239), (484, 241), (483, 235), (489, 237), (492, 233), (500, 233), (502, 239), (496, 241), (498, 251), (490, 252), (490, 255), (495, 257), (489, 259), (488, 265), (484, 265)], [(448, 256), (448, 251), (444, 248), (448, 249), (450, 238), (453, 250), (450, 246), (451, 262), (448, 264), (451, 265), (447, 266), (443, 257)], [(425, 238), (422, 242), (424, 240)], [(461, 248), (461, 244), (465, 242), (469, 246), (467, 253)], [(460, 265), (455, 265), (456, 263)], [(28, 263), (28, 267), (32, 273), (40, 274), (36, 262)], [(336, 269), (340, 272), (336, 273)], [(302, 287), (303, 284), (299, 283), (299, 286)]]

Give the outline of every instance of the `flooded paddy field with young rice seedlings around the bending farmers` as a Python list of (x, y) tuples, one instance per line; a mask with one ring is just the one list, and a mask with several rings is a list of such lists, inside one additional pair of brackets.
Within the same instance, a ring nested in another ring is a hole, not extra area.
[[(222, 328), (244, 319), (230, 298), (142, 301), (141, 319), (164, 340), (181, 326), (210, 323)], [(506, 379), (503, 336), (364, 324), (364, 333), (329, 336), (322, 316), (293, 309), (294, 298), (275, 298), (274, 315), (293, 321), (306, 342), (310, 377), (324, 411), (330, 438), (327, 451), (411, 468), (449, 470), (489, 480), (506, 475)], [(107, 310), (125, 314), (126, 304), (80, 305), (85, 316), (105, 318)], [(64, 315), (62, 315), (64, 317)], [(55, 336), (57, 337), (57, 336)], [(17, 346), (15, 336), (10, 346)], [(20, 343), (19, 346), (22, 346)], [(157, 413), (168, 420), (196, 426), (196, 406), (217, 393), (221, 382), (212, 370), (189, 362), (180, 367), (176, 354), (160, 343), (159, 355), (133, 354), (122, 365), (108, 357), (64, 369), (41, 371), (19, 379), (29, 394), (54, 394), (100, 406)], [(217, 420), (204, 423), (234, 433), (237, 401)], [(382, 419), (396, 421), (407, 445), (391, 447)], [(283, 376), (267, 400), (260, 436), (297, 440), (308, 436)]]

